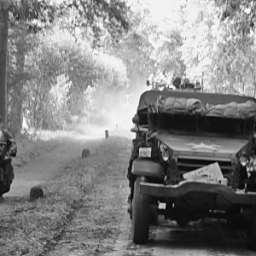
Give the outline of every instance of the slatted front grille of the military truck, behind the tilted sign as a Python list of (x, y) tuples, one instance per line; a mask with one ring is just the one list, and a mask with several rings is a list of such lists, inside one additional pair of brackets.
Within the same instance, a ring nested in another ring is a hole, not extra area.
[(211, 165), (218, 162), (224, 177), (229, 177), (231, 171), (231, 160), (199, 160), (199, 159), (177, 159), (177, 170), (180, 174), (194, 171), (202, 166)]

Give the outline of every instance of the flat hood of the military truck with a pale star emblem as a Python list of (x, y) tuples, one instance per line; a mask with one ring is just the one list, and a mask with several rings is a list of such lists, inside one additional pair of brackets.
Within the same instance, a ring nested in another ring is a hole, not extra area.
[(196, 137), (170, 134), (158, 134), (157, 140), (173, 150), (173, 154), (219, 156), (235, 158), (236, 154), (250, 147), (246, 139), (227, 137)]

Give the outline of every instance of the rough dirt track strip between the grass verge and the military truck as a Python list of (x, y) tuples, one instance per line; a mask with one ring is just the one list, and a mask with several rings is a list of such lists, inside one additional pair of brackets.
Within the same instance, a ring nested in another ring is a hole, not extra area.
[(129, 153), (129, 146), (125, 145), (115, 149), (104, 160), (96, 162), (95, 187), (84, 198), (83, 206), (75, 212), (54, 247), (50, 247), (44, 256), (89, 256), (114, 251), (126, 211)]

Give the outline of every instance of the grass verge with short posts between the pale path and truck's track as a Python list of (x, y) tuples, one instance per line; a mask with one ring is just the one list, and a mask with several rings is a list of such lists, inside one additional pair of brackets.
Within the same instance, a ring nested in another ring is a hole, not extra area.
[(113, 137), (97, 142), (96, 155), (73, 162), (65, 174), (44, 186), (44, 199), (17, 201), (1, 212), (0, 255), (44, 255), (86, 200), (96, 169), (110, 164), (127, 140)]

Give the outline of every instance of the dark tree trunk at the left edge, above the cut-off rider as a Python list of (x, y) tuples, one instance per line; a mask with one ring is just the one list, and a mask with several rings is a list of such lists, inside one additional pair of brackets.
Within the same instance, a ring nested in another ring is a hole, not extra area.
[(7, 43), (9, 30), (9, 0), (0, 1), (0, 117), (3, 126), (7, 121)]

